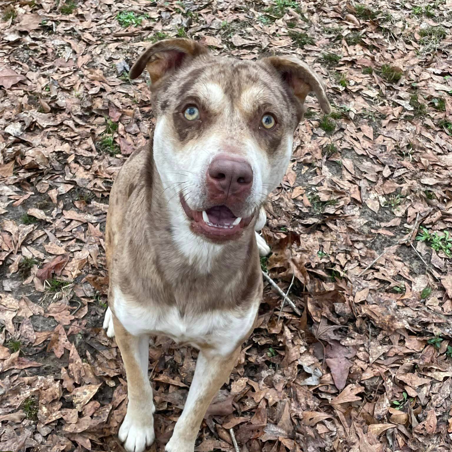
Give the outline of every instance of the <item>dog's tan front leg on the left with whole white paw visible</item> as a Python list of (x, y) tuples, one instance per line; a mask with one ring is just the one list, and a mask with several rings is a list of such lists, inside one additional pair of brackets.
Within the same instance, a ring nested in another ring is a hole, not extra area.
[(128, 452), (142, 452), (154, 441), (155, 411), (152, 388), (147, 376), (149, 336), (132, 336), (113, 315), (116, 342), (121, 350), (127, 375), (127, 414), (118, 437)]

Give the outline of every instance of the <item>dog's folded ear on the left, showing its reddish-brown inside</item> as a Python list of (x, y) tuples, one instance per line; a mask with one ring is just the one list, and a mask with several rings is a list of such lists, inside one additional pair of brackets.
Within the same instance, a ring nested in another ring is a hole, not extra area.
[(146, 69), (154, 84), (164, 75), (176, 71), (193, 58), (208, 53), (206, 46), (199, 44), (193, 39), (175, 38), (156, 42), (148, 47), (130, 69), (129, 76), (136, 79)]

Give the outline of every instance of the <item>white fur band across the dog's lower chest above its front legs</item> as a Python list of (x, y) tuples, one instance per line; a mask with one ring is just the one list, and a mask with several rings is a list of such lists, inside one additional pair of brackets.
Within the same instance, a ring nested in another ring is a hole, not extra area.
[(130, 334), (162, 334), (178, 344), (209, 346), (224, 355), (231, 353), (237, 338), (251, 329), (257, 310), (253, 305), (246, 312), (216, 310), (182, 316), (176, 307), (137, 305), (126, 300), (118, 288), (114, 297), (115, 315)]

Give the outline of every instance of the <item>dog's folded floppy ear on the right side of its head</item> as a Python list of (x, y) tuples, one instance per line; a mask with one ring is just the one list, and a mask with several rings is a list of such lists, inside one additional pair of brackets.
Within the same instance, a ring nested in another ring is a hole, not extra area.
[(292, 88), (301, 106), (306, 96), (314, 92), (322, 110), (327, 114), (331, 113), (323, 81), (303, 61), (294, 56), (269, 56), (261, 61), (273, 66), (281, 74), (283, 83)]

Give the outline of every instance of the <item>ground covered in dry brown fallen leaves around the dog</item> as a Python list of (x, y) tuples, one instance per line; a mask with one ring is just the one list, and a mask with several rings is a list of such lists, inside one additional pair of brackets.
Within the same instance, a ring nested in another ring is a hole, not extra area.
[[(17, 0), (0, 13), (0, 450), (118, 451), (127, 406), (101, 329), (118, 169), (154, 118), (129, 66), (188, 36), (299, 56), (327, 80), (268, 203), (259, 326), (196, 451), (450, 451), (450, 0)], [(153, 451), (197, 352), (157, 338)]]

